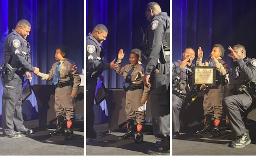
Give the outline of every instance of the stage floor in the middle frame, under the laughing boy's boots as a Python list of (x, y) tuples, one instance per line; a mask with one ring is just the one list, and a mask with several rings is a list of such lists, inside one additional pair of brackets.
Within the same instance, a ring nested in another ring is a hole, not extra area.
[[(108, 124), (94, 125), (94, 129), (97, 132), (103, 132), (102, 138), (93, 139), (92, 142), (86, 143), (86, 155), (87, 156), (120, 156), (120, 155), (132, 155), (143, 156), (148, 155), (147, 149), (155, 148), (155, 142), (159, 141), (152, 134), (152, 123), (146, 124), (146, 132), (144, 134), (144, 142), (142, 144), (133, 143), (132, 139), (120, 140), (118, 136), (125, 134), (126, 126), (122, 129), (115, 130), (110, 134), (108, 131)], [(136, 135), (135, 135), (136, 136)]]

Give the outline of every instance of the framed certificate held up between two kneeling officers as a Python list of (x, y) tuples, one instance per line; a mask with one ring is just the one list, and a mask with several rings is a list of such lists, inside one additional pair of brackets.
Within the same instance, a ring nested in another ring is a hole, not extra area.
[(215, 86), (216, 83), (216, 67), (213, 66), (194, 66), (193, 68), (193, 84), (207, 86)]

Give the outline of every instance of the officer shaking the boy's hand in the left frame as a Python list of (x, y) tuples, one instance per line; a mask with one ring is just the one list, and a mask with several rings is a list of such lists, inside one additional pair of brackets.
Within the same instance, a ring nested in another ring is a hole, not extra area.
[[(39, 72), (38, 68), (31, 65), (30, 47), (26, 41), (30, 30), (31, 24), (28, 20), (19, 20), (15, 30), (12, 30), (3, 43), (5, 54), (5, 65), (2, 66), (1, 76), (3, 135), (10, 138), (20, 138), (20, 133), (31, 134), (33, 132), (23, 125), (21, 112), (23, 75), (26, 73), (28, 79), (31, 79), (28, 71), (35, 74)], [(14, 131), (14, 125), (17, 131)]]

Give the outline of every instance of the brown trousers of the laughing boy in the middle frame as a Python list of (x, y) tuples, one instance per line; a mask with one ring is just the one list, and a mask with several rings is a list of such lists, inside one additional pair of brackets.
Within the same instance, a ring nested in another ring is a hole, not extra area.
[(142, 124), (145, 121), (145, 112), (141, 104), (142, 89), (128, 90), (125, 99), (126, 120), (136, 120), (137, 124)]

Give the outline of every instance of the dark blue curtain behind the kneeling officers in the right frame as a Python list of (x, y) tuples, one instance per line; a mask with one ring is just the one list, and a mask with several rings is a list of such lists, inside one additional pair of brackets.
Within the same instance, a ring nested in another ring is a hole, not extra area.
[(223, 60), (229, 68), (232, 59), (227, 56), (228, 46), (242, 44), (247, 56), (255, 58), (255, 7), (254, 0), (173, 0), (172, 61), (181, 59), (186, 47), (192, 47), (197, 58), (201, 46), (203, 60), (210, 58), (214, 44), (225, 48)]

